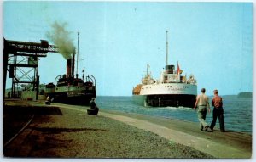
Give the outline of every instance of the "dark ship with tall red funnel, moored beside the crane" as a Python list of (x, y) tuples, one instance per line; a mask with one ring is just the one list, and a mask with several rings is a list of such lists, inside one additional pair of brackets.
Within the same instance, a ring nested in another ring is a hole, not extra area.
[[(79, 59), (79, 58), (77, 58)], [(67, 73), (55, 77), (55, 83), (50, 82), (44, 87), (45, 98), (49, 97), (55, 103), (74, 105), (89, 105), (91, 98), (96, 98), (96, 79), (87, 75), (84, 79), (79, 75), (74, 76), (75, 54), (72, 59), (67, 59)], [(56, 83), (56, 80), (57, 83)]]

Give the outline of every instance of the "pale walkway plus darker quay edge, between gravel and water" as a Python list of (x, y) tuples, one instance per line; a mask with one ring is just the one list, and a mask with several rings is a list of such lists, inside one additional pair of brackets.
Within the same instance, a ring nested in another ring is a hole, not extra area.
[[(66, 109), (84, 112), (81, 107), (61, 105)], [(252, 156), (252, 136), (247, 133), (215, 129), (214, 132), (199, 131), (198, 124), (184, 120), (129, 114), (102, 110), (99, 115), (119, 120), (144, 131), (154, 132), (169, 142), (176, 142), (211, 154), (218, 159), (250, 159)], [(225, 151), (224, 151), (225, 150)]]

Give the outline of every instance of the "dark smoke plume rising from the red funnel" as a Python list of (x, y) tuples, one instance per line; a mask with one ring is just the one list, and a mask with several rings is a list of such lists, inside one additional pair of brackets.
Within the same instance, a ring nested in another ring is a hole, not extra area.
[(70, 37), (71, 32), (65, 29), (67, 23), (59, 24), (55, 21), (52, 27), (52, 31), (48, 31), (46, 36), (50, 41), (54, 42), (55, 46), (58, 47), (59, 53), (65, 59), (71, 59), (72, 54), (75, 53), (75, 46), (73, 40)]

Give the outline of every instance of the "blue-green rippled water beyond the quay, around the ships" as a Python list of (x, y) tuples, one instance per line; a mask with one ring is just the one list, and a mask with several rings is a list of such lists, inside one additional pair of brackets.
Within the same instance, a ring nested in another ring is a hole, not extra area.
[[(236, 98), (236, 96), (223, 96), (223, 99), (224, 121), (226, 130), (252, 133), (252, 98)], [(138, 105), (137, 103), (133, 103), (131, 97), (100, 96), (96, 98), (96, 104), (99, 106), (100, 109), (198, 122), (197, 114), (191, 108), (143, 107)], [(210, 124), (211, 121), (212, 112), (210, 114), (207, 113), (207, 123)], [(219, 126), (218, 120), (216, 126)]]

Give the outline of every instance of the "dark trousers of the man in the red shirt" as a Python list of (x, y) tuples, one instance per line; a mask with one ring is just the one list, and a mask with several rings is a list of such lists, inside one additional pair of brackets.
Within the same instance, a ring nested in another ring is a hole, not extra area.
[(213, 115), (212, 116), (212, 124), (211, 124), (210, 128), (211, 129), (214, 128), (214, 126), (216, 125), (217, 117), (218, 117), (220, 131), (225, 131), (223, 108), (218, 108), (218, 109), (214, 108), (212, 115)]

